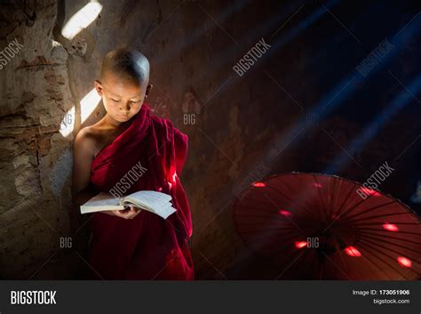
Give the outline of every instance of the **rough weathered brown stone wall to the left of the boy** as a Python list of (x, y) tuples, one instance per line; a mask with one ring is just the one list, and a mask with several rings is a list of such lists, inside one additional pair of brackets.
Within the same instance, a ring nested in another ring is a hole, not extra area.
[(68, 233), (71, 145), (60, 134), (73, 105), (68, 52), (54, 41), (54, 1), (2, 4), (1, 50), (23, 45), (0, 71), (0, 277), (29, 278)]

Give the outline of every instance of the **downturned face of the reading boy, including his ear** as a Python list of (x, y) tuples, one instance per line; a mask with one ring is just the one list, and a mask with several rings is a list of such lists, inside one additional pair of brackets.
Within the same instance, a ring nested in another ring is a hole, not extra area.
[(95, 88), (102, 97), (107, 114), (117, 122), (125, 122), (136, 115), (149, 92), (150, 85), (135, 85), (119, 76), (107, 73)]

